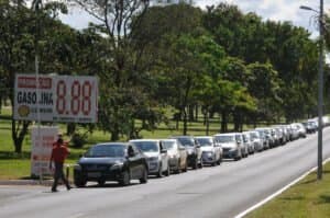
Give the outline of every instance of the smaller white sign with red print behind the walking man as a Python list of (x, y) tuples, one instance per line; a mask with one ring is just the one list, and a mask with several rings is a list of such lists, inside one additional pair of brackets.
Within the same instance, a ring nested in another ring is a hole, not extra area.
[(31, 174), (35, 176), (52, 175), (50, 159), (53, 144), (57, 140), (57, 127), (32, 127), (31, 130)]

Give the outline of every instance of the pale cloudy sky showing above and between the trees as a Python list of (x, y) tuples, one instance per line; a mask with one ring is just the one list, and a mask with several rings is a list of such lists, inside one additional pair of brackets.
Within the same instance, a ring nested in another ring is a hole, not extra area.
[[(330, 0), (324, 1), (324, 12), (330, 12)], [(217, 5), (220, 2), (235, 4), (244, 13), (255, 12), (263, 20), (289, 21), (294, 25), (302, 26), (317, 36), (317, 26), (314, 24), (315, 12), (299, 9), (307, 5), (319, 10), (318, 0), (195, 0), (195, 7), (205, 9), (207, 5)], [(87, 27), (88, 22), (96, 22), (88, 13), (78, 9), (70, 9), (68, 15), (61, 15), (61, 20), (70, 26), (81, 30)]]

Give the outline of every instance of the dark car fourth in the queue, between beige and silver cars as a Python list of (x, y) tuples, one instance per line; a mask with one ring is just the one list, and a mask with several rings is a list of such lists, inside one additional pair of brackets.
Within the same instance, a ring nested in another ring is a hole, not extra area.
[(193, 136), (173, 136), (170, 138), (178, 139), (186, 147), (188, 151), (188, 167), (193, 169), (202, 168), (200, 145)]

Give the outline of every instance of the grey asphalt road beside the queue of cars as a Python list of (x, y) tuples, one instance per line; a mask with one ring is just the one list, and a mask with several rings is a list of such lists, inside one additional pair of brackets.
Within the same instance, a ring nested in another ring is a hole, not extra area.
[[(323, 131), (323, 157), (330, 157), (330, 128)], [(0, 186), (0, 217), (148, 218), (234, 217), (317, 165), (317, 135), (238, 162), (128, 187), (98, 187), (51, 193), (43, 186)]]

